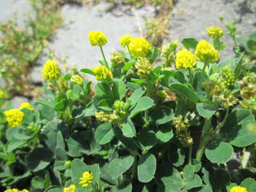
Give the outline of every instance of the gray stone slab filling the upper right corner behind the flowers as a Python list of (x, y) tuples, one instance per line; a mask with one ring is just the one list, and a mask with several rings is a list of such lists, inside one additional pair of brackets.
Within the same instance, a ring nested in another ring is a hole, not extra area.
[[(225, 21), (232, 22), (237, 19), (237, 28), (242, 34), (248, 35), (255, 29), (255, 6), (254, 1), (223, 1), (223, 0), (180, 0), (173, 9), (169, 23), (170, 38), (165, 43), (183, 38), (195, 37), (198, 40), (210, 38), (206, 35), (205, 29), (209, 26), (220, 26), (225, 29), (219, 15), (222, 14)], [(253, 5), (252, 10), (250, 6)], [(227, 33), (227, 30), (225, 30)], [(233, 51), (234, 43), (230, 37), (225, 35), (221, 39), (228, 46), (220, 52), (220, 61), (235, 56)]]

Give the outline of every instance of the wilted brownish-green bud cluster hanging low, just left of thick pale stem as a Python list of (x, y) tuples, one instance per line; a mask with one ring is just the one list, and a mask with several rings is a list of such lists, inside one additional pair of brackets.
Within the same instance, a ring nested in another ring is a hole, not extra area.
[(193, 145), (193, 139), (191, 138), (190, 133), (188, 131), (188, 127), (190, 126), (188, 119), (183, 119), (182, 115), (180, 115), (179, 117), (173, 117), (172, 124), (176, 129), (176, 137), (180, 141), (180, 144), (183, 147)]

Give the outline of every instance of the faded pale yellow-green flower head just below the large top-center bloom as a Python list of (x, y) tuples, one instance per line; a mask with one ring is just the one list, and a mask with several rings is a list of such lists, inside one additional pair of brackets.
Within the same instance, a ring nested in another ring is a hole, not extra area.
[(141, 79), (146, 79), (153, 72), (153, 67), (150, 65), (147, 58), (138, 57), (135, 68), (137, 69), (137, 75)]

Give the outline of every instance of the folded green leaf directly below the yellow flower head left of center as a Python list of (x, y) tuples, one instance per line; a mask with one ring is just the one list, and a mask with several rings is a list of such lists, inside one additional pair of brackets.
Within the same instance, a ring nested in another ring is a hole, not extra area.
[(109, 85), (106, 83), (97, 83), (95, 85), (95, 92), (99, 100), (108, 98), (109, 100), (114, 101), (114, 95)]

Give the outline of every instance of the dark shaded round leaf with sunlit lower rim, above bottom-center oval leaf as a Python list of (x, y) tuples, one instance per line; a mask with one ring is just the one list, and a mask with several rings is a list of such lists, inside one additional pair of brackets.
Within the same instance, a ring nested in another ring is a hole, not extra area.
[(148, 150), (156, 145), (156, 135), (154, 131), (150, 131), (147, 128), (141, 130), (141, 132), (135, 138), (136, 144), (142, 150)]

